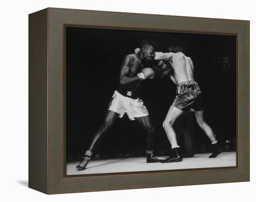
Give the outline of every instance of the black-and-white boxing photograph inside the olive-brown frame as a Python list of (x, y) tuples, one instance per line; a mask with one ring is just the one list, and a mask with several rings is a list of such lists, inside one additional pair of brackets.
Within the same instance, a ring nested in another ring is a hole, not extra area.
[(236, 36), (65, 29), (66, 175), (236, 166)]

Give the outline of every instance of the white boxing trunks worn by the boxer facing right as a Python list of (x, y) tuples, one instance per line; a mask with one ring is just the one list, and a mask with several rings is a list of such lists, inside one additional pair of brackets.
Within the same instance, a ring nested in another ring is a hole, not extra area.
[(148, 115), (148, 110), (144, 106), (143, 101), (139, 98), (132, 99), (121, 95), (117, 91), (113, 94), (112, 101), (109, 104), (108, 110), (120, 114), (119, 117), (122, 118), (126, 113), (130, 120), (135, 120), (136, 117), (142, 117)]

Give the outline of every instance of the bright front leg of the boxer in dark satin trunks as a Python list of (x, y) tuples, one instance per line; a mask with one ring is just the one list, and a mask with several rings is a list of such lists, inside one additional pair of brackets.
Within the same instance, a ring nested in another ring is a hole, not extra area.
[(173, 129), (173, 123), (176, 120), (176, 118), (181, 114), (182, 110), (175, 108), (174, 106), (171, 106), (165, 117), (165, 120), (163, 121), (163, 128), (165, 130), (165, 133), (168, 137), (170, 144), (172, 145), (172, 148), (178, 146), (175, 131)]

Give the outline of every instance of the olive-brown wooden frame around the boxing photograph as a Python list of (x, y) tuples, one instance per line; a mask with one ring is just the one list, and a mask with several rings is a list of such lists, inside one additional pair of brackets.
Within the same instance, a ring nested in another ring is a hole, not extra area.
[[(65, 175), (64, 28), (231, 34), (237, 37), (236, 167)], [(46, 194), (249, 181), (249, 21), (46, 8), (29, 14), (29, 188)]]

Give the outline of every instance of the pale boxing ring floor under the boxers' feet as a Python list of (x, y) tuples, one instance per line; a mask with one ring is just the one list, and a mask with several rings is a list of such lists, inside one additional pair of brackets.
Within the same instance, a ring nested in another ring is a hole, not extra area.
[[(100, 173), (121, 173), (134, 171), (175, 170), (189, 168), (216, 168), (236, 166), (236, 152), (223, 152), (216, 158), (208, 158), (210, 153), (195, 154), (182, 162), (146, 163), (146, 157), (115, 158), (90, 161), (85, 170), (78, 171), (79, 162), (67, 162), (67, 175), (85, 175)], [(165, 159), (167, 156), (159, 158)]]

